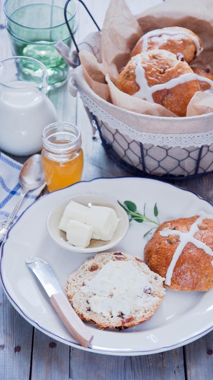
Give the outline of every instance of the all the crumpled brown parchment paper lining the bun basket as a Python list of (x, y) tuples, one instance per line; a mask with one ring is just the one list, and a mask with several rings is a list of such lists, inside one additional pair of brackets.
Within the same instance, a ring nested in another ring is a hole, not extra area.
[[(169, 0), (135, 17), (124, 0), (111, 0), (101, 38), (100, 33), (91, 33), (79, 46), (83, 49), (80, 52), (80, 60), (87, 83), (102, 99), (123, 109), (151, 116), (176, 117), (161, 105), (151, 104), (146, 100), (124, 94), (114, 86), (113, 82), (116, 81), (119, 69), (127, 63), (139, 38), (149, 30), (166, 26), (182, 26), (193, 30), (200, 37), (204, 51), (196, 60), (193, 60), (192, 65), (208, 67), (212, 70), (213, 12), (210, 12), (211, 8), (213, 5), (210, 0), (179, 0), (178, 2)], [(100, 86), (100, 83), (103, 86)], [(200, 97), (202, 102), (197, 101), (198, 95), (190, 101), (187, 116), (212, 112), (211, 95), (205, 93), (205, 97), (202, 95)]]

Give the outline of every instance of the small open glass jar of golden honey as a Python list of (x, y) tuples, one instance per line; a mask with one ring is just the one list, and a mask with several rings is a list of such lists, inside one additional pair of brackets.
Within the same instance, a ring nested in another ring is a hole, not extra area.
[(49, 192), (81, 180), (83, 150), (81, 133), (73, 124), (47, 125), (42, 133), (42, 168)]

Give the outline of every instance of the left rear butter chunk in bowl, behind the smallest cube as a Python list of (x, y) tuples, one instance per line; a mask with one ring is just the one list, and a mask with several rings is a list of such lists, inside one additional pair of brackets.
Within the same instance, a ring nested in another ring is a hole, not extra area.
[(86, 223), (86, 217), (89, 212), (89, 207), (83, 204), (71, 201), (65, 207), (63, 217), (61, 218), (58, 228), (63, 231), (67, 231), (67, 223), (70, 219), (78, 220), (81, 223)]

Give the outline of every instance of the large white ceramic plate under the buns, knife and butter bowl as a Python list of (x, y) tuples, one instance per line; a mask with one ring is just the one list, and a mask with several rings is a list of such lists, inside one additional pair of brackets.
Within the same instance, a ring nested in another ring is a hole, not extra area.
[[(64, 327), (47, 294), (25, 264), (28, 256), (43, 257), (52, 266), (62, 288), (65, 277), (92, 256), (70, 253), (56, 245), (45, 222), (52, 208), (74, 195), (93, 194), (113, 201), (134, 201), (139, 211), (146, 202), (147, 216), (153, 217), (157, 203), (160, 222), (196, 215), (201, 209), (213, 213), (213, 206), (194, 193), (157, 180), (142, 178), (96, 179), (45, 195), (33, 203), (12, 226), (2, 245), (1, 278), (5, 292), (16, 310), (33, 326), (60, 342), (80, 347)], [(124, 240), (114, 250), (143, 257), (144, 233), (150, 224), (130, 223)], [(213, 288), (207, 292), (166, 290), (153, 317), (122, 332), (100, 331), (87, 323), (94, 339), (88, 351), (111, 355), (143, 355), (180, 347), (213, 329)], [(84, 348), (82, 348), (84, 349)]]

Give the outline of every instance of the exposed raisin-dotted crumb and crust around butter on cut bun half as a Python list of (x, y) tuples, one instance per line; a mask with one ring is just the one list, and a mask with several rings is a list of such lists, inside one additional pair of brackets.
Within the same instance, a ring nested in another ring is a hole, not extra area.
[[(121, 315), (113, 318), (113, 322), (111, 322), (109, 318), (103, 317), (99, 313), (93, 312), (90, 309), (89, 299), (94, 294), (86, 294), (86, 296), (84, 296), (81, 293), (81, 288), (84, 284), (85, 279), (91, 280), (93, 277), (95, 277), (97, 272), (99, 272), (100, 269), (110, 260), (131, 261), (131, 263), (139, 268), (140, 271), (143, 271), (150, 276), (150, 279), (152, 280), (153, 292), (152, 294), (146, 294), (145, 296), (152, 297), (154, 304), (152, 309), (148, 310), (143, 318), (138, 319), (138, 317), (135, 315)], [(82, 320), (94, 323), (99, 327), (99, 329), (112, 328), (116, 331), (123, 331), (129, 327), (143, 323), (152, 317), (163, 300), (165, 293), (165, 290), (163, 288), (163, 280), (164, 279), (162, 279), (159, 275), (150, 271), (150, 269), (141, 258), (133, 257), (116, 251), (98, 253), (94, 256), (94, 258), (86, 260), (85, 263), (77, 271), (73, 272), (69, 278), (67, 278), (67, 287), (65, 290), (67, 292), (67, 297), (72, 304), (72, 307)]]

